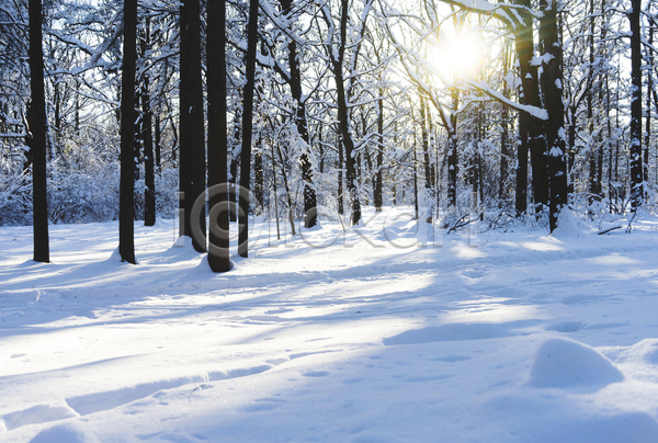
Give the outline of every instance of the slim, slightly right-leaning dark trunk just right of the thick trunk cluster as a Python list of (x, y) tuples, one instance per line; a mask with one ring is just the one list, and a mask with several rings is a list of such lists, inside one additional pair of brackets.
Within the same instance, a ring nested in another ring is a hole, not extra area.
[(247, 83), (242, 106), (242, 149), (240, 151), (240, 197), (238, 214), (238, 254), (249, 257), (249, 198), (242, 195), (251, 189), (251, 137), (253, 115), (253, 90), (256, 84), (256, 49), (258, 46), (258, 2), (249, 0), (249, 22), (247, 24)]

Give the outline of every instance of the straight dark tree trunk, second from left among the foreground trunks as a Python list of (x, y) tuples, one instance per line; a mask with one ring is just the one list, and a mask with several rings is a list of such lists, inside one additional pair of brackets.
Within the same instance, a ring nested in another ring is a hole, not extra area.
[(124, 59), (121, 92), (121, 183), (118, 253), (135, 260), (135, 65), (137, 59), (137, 0), (124, 0)]

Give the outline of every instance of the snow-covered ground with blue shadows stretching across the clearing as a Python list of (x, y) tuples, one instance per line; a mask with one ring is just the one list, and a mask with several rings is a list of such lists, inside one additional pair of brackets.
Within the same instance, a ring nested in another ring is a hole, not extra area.
[(655, 218), (261, 223), (228, 274), (135, 226), (136, 266), (116, 223), (52, 226), (50, 264), (0, 228), (0, 441), (658, 441)]

